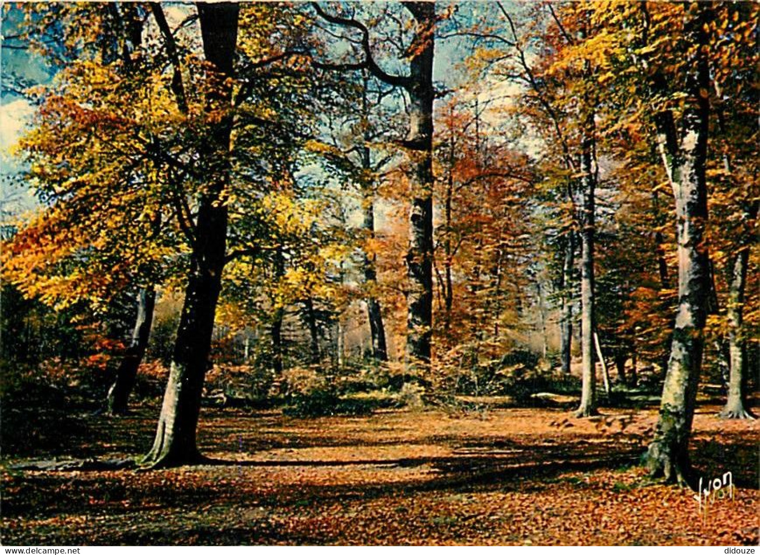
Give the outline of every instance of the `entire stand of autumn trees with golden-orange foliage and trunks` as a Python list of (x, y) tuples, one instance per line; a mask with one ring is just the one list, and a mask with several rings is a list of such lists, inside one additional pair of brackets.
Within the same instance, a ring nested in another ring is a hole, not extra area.
[(678, 481), (701, 375), (752, 418), (756, 5), (3, 9), (53, 76), (8, 93), (37, 204), (4, 211), (3, 358), (97, 366), (112, 412), (160, 361), (146, 464), (198, 459), (218, 389), (589, 416), (638, 387)]

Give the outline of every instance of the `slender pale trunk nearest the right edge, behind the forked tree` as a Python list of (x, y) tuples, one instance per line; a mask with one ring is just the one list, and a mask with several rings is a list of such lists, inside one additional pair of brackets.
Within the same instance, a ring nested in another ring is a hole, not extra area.
[[(755, 210), (756, 212), (756, 210)], [(736, 254), (733, 260), (729, 283), (728, 298), (728, 345), (729, 345), (729, 382), (726, 406), (720, 412), (720, 418), (754, 419), (744, 407), (744, 380), (746, 379), (747, 348), (742, 336), (744, 290), (747, 279), (749, 245)]]

